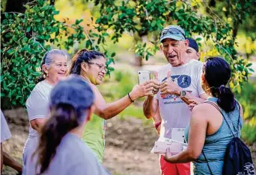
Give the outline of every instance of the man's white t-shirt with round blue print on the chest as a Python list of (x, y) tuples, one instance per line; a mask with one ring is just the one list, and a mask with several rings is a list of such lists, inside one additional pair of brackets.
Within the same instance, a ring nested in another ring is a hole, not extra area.
[[(195, 97), (204, 94), (201, 88), (201, 73), (203, 64), (198, 60), (190, 60), (188, 63), (173, 67), (170, 64), (159, 69), (158, 78), (162, 82), (167, 73), (171, 71), (171, 79), (178, 84), (186, 93)], [(191, 112), (189, 106), (176, 95), (160, 95), (155, 98), (159, 101), (159, 112), (162, 118), (160, 137), (171, 138), (171, 128), (185, 128), (189, 125)]]

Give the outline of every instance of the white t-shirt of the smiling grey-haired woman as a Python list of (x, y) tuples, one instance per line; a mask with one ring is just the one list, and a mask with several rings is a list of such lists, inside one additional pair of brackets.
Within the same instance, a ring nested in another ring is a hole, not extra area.
[[(25, 106), (28, 110), (28, 120), (34, 120), (37, 118), (46, 118), (49, 114), (49, 95), (52, 91), (53, 86), (46, 83), (45, 80), (37, 83), (34, 89), (29, 95)], [(34, 130), (29, 124), (29, 134), (28, 139), (25, 142), (23, 153), (25, 154), (28, 147), (33, 144), (33, 139), (37, 138), (37, 130)]]

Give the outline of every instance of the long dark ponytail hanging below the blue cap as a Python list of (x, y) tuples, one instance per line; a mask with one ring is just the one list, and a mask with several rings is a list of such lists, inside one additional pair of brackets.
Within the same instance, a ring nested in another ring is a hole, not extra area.
[(39, 146), (33, 154), (38, 154), (37, 165), (40, 165), (40, 174), (49, 167), (61, 139), (70, 130), (78, 127), (84, 116), (85, 109), (75, 109), (70, 104), (51, 106), (51, 115), (41, 130)]

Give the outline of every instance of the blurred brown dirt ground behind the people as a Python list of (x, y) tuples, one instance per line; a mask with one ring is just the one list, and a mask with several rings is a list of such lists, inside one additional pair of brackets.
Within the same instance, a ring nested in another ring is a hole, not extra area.
[[(28, 117), (25, 109), (6, 110), (12, 138), (5, 141), (3, 149), (22, 163), (22, 149), (28, 136)], [(153, 125), (145, 125), (143, 120), (118, 117), (108, 121), (106, 130), (106, 150), (103, 165), (114, 175), (158, 175), (158, 156), (150, 153), (156, 132)], [(250, 147), (256, 163), (256, 143)], [(255, 164), (256, 165), (256, 164)], [(3, 174), (16, 174), (12, 168), (4, 167)]]

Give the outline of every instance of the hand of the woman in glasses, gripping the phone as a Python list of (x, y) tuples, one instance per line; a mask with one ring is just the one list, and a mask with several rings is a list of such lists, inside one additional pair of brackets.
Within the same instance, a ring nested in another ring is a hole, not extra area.
[(129, 95), (132, 98), (132, 101), (135, 101), (137, 98), (141, 98), (147, 95), (153, 95), (152, 90), (153, 86), (150, 83), (150, 80), (148, 80), (140, 85), (135, 85)]

